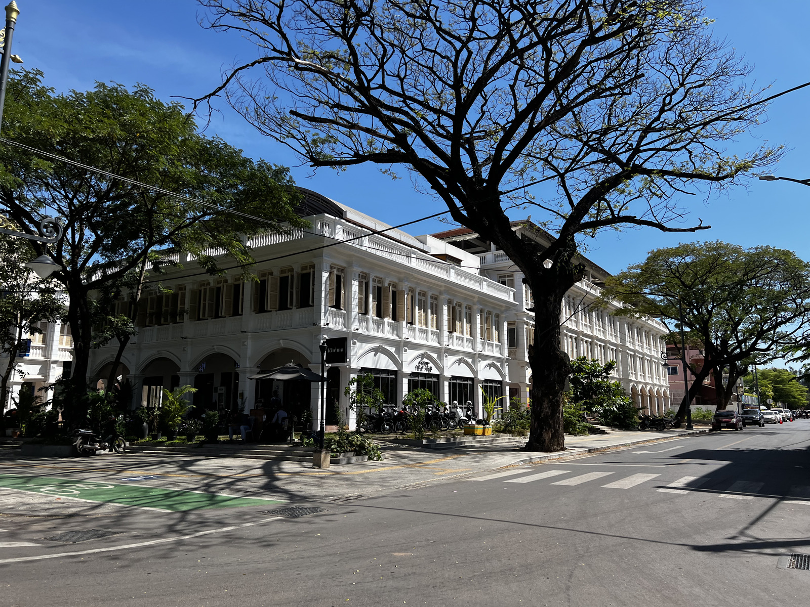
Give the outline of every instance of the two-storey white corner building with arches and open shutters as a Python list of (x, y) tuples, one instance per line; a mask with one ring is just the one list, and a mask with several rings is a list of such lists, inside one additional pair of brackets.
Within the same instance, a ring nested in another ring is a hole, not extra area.
[[(249, 411), (278, 393), (286, 410), (311, 410), (318, 423), (318, 384), (249, 377), (291, 362), (320, 372), (325, 339), (346, 353), (326, 371), (327, 423), (336, 421), (335, 404), (348, 413), (343, 391), (360, 372), (391, 404), (426, 388), (480, 411), (481, 388), (504, 394), (514, 288), (482, 275), (472, 253), (302, 191), (300, 214), (311, 228), (249, 240), (258, 281), (245, 281), (239, 268), (212, 277), (177, 257), (168, 261), (181, 267), (164, 265), (160, 288), (148, 285), (139, 333), (116, 373), (130, 380), (136, 404), (184, 384), (198, 388), (194, 402), (204, 409)], [(126, 313), (126, 299), (117, 309)], [(116, 345), (93, 352), (92, 380), (109, 376)]]

